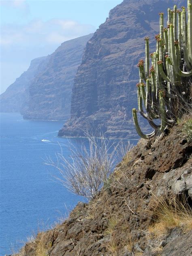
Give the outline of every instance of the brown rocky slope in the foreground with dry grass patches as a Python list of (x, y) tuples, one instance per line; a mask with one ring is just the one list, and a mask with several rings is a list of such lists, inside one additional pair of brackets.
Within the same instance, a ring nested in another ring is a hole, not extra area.
[[(184, 131), (181, 123), (169, 135), (141, 139), (95, 199), (79, 203), (64, 223), (39, 233), (18, 255), (192, 255), (192, 216), (186, 214), (192, 207), (192, 145)], [(185, 202), (177, 215), (172, 196), (180, 206)]]

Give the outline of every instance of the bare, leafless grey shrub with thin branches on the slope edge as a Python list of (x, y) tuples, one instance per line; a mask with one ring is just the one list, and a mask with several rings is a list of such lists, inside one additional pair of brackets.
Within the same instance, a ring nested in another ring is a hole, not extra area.
[(56, 177), (69, 191), (95, 198), (98, 191), (107, 182), (107, 178), (118, 161), (122, 159), (123, 143), (101, 137), (87, 137), (88, 145), (83, 143), (78, 149), (69, 142), (71, 155), (65, 157), (56, 153), (57, 161), (48, 157), (45, 164), (54, 166), (61, 177)]

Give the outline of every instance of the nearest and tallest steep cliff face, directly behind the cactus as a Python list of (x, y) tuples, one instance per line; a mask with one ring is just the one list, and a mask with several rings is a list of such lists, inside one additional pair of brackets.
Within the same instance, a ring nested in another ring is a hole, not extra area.
[[(73, 86), (71, 118), (59, 136), (102, 130), (110, 137), (133, 136), (132, 107), (137, 107), (137, 63), (144, 57), (145, 36), (151, 52), (159, 31), (159, 12), (182, 1), (124, 0), (109, 13), (87, 42)], [(165, 24), (166, 26), (166, 24)]]

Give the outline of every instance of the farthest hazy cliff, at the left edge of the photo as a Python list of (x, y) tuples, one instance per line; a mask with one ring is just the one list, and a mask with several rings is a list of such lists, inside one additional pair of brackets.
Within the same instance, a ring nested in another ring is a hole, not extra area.
[(27, 107), (30, 83), (43, 70), (48, 59), (49, 56), (32, 60), (28, 70), (0, 95), (1, 112), (22, 112)]

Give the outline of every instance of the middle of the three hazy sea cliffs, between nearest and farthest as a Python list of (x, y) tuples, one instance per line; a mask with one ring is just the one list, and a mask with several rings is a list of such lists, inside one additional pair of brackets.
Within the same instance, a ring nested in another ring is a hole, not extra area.
[(70, 115), (71, 92), (83, 49), (92, 34), (66, 41), (50, 55), (44, 70), (29, 89), (26, 119), (66, 119)]

